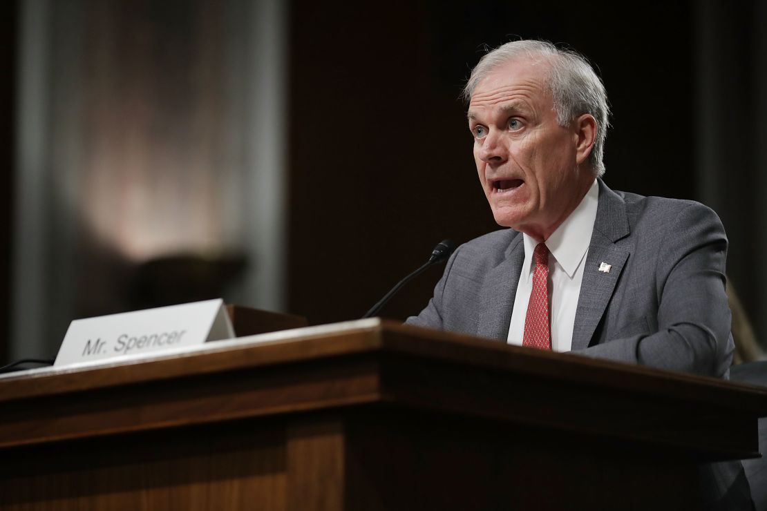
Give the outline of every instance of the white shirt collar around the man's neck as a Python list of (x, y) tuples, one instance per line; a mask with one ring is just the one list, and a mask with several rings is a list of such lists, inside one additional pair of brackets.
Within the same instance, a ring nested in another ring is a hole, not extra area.
[[(594, 221), (597, 219), (599, 203), (599, 185), (597, 180), (588, 188), (581, 203), (565, 218), (556, 231), (545, 241), (546, 247), (555, 260), (572, 278), (575, 270), (581, 264), (588, 245), (591, 243), (591, 231), (594, 231)], [(532, 252), (538, 244), (532, 237), (523, 234), (525, 241), (525, 268), (532, 270)]]

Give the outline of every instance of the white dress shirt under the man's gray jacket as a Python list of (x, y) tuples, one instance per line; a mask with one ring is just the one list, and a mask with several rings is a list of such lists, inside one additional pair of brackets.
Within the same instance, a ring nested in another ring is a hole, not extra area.
[[(546, 247), (548, 256), (548, 296), (551, 312), (551, 349), (555, 352), (568, 352), (573, 341), (575, 310), (578, 308), (578, 296), (581, 294), (581, 280), (585, 266), (591, 231), (597, 218), (599, 186), (597, 180), (581, 200), (581, 204), (565, 218), (554, 231)], [(523, 234), (525, 243), (525, 262), (519, 274), (517, 294), (514, 299), (512, 323), (509, 326), (509, 344), (522, 346), (525, 332), (530, 292), (532, 291), (532, 253), (538, 244), (532, 237)]]

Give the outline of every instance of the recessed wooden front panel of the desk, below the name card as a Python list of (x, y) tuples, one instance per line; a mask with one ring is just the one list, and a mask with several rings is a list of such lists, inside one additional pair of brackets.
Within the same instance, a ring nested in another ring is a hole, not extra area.
[(87, 439), (5, 455), (4, 510), (285, 509), (281, 424)]

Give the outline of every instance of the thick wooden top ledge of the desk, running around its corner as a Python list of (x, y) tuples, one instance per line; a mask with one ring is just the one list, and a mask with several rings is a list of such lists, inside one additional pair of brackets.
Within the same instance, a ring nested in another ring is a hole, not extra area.
[[(7, 376), (0, 445), (394, 403), (673, 444), (713, 460), (758, 451), (749, 431), (767, 414), (765, 396), (714, 378), (368, 319), (143, 363)], [(708, 437), (723, 430), (731, 434)]]

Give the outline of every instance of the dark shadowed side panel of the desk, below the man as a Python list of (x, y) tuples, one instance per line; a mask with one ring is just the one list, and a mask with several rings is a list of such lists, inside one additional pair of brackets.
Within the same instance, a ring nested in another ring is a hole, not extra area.
[(416, 412), (350, 422), (345, 509), (702, 509), (693, 464), (604, 438)]

